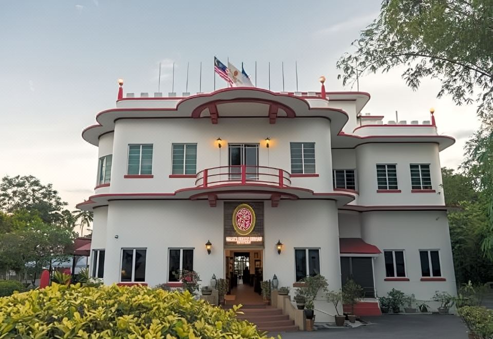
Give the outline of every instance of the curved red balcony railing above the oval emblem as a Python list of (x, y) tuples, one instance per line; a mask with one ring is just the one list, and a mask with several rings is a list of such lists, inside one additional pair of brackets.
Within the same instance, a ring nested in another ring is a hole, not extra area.
[(206, 168), (197, 173), (197, 187), (211, 187), (221, 184), (236, 183), (248, 185), (262, 183), (277, 187), (291, 186), (291, 175), (285, 170), (266, 166), (220, 166)]

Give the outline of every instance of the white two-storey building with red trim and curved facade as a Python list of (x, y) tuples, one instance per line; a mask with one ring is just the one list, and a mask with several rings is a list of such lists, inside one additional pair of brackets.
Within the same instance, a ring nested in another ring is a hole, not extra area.
[(367, 298), (456, 293), (439, 158), (454, 139), (433, 117), (384, 123), (361, 115), (368, 93), (325, 88), (122, 93), (82, 133), (99, 160), (78, 208), (94, 211), (90, 269), (106, 284), (193, 269), (208, 285), (246, 265), (279, 286), (351, 276)]

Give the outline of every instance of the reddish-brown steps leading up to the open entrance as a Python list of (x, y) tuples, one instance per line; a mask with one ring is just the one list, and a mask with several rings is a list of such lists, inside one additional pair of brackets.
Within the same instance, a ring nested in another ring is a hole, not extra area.
[(244, 314), (238, 314), (238, 319), (248, 320), (257, 325), (260, 331), (292, 332), (299, 330), (298, 326), (294, 325), (294, 321), (277, 308), (270, 308), (266, 305), (245, 305), (240, 311)]

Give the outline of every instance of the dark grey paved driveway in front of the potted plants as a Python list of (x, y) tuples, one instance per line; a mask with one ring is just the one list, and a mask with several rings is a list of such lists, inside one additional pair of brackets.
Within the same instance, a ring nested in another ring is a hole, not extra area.
[(364, 317), (372, 325), (354, 329), (317, 330), (313, 332), (281, 333), (289, 338), (337, 339), (467, 339), (467, 328), (455, 315), (383, 315)]

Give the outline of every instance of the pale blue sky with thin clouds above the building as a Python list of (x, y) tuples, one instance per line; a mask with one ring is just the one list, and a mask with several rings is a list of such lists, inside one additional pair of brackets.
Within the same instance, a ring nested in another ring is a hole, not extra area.
[[(0, 10), (0, 175), (33, 175), (52, 183), (67, 208), (93, 194), (98, 150), (81, 137), (99, 111), (115, 107), (117, 79), (125, 92), (202, 91), (214, 88), (213, 60), (244, 63), (258, 87), (356, 90), (337, 80), (335, 63), (378, 15), (381, 0), (270, 1), (2, 1)], [(257, 79), (255, 79), (257, 62)], [(429, 120), (434, 107), (439, 134), (456, 138), (441, 153), (442, 166), (457, 168), (463, 147), (478, 128), (476, 107), (437, 99), (440, 84), (424, 80), (409, 89), (399, 70), (362, 77), (371, 100), (363, 113), (384, 121)], [(225, 82), (216, 78), (216, 88)]]

